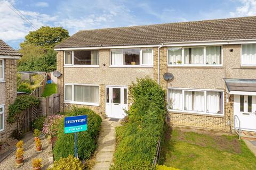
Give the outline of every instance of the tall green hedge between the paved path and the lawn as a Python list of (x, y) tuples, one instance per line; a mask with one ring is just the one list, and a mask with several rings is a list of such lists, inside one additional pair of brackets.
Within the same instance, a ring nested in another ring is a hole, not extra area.
[(134, 103), (128, 121), (116, 128), (117, 148), (111, 169), (150, 169), (163, 135), (165, 92), (149, 79), (138, 79), (130, 88)]

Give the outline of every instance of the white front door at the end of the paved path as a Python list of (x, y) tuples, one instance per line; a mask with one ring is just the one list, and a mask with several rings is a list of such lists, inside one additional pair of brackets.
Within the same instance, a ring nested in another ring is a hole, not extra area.
[(127, 105), (127, 87), (106, 86), (106, 115), (124, 118)]

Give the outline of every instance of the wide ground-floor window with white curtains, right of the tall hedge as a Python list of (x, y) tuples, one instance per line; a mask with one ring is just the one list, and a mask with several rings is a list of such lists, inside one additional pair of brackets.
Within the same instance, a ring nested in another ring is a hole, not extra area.
[(168, 89), (169, 111), (223, 114), (223, 92), (215, 90)]

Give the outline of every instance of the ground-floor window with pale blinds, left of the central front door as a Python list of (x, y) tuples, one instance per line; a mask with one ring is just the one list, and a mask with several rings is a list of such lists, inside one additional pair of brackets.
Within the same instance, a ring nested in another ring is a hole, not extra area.
[(99, 105), (99, 86), (65, 84), (65, 102), (85, 105)]

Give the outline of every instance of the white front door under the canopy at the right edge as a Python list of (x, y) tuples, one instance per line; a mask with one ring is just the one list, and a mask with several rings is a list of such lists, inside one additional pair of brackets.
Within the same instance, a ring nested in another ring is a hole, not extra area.
[[(235, 115), (241, 122), (242, 130), (256, 132), (256, 96), (234, 95)], [(237, 120), (236, 127), (238, 128)]]

